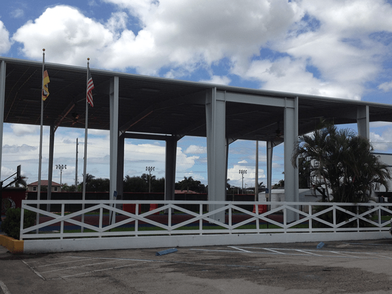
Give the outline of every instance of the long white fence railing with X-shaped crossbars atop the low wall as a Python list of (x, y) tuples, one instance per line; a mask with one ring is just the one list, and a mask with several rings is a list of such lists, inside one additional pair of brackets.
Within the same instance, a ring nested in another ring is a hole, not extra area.
[[(42, 209), (45, 204), (50, 204), (52, 209), (57, 206), (60, 212), (47, 212)], [(82, 209), (82, 204), (88, 208)], [(116, 208), (119, 204), (130, 204), (133, 207), (131, 211), (124, 211)], [(148, 210), (151, 204), (158, 208)], [(209, 204), (219, 208), (206, 212), (206, 208), (211, 207)], [(65, 210), (68, 205), (72, 205), (73, 210), (75, 206), (79, 209), (67, 213)], [(258, 207), (266, 208), (265, 205), (278, 207), (259, 213)], [(254, 212), (252, 206), (256, 208)], [(141, 211), (141, 207), (145, 208), (144, 211)], [(22, 227), (25, 210), (39, 214), (39, 221), (28, 228)], [(223, 213), (225, 221), (217, 221), (216, 216), (222, 216)], [(389, 203), (23, 200), (20, 240), (148, 235), (381, 232), (390, 229), (390, 218), (385, 217), (382, 220), (383, 215), (392, 215)]]

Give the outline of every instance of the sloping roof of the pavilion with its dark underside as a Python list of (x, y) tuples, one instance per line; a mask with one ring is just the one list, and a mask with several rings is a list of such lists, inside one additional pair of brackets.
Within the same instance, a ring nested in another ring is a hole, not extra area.
[[(40, 124), (42, 63), (0, 57), (6, 61), (4, 122)], [(44, 125), (84, 128), (86, 68), (46, 63), (49, 98)], [(314, 129), (319, 119), (356, 123), (357, 106), (369, 106), (369, 119), (392, 122), (392, 105), (293, 93), (245, 89), (168, 78), (91, 69), (95, 89), (89, 108), (89, 128), (109, 129), (109, 85), (119, 77), (119, 127), (123, 131), (206, 136), (205, 91), (271, 98), (298, 97), (299, 133)], [(226, 135), (236, 139), (268, 140), (284, 132), (282, 107), (226, 102)]]

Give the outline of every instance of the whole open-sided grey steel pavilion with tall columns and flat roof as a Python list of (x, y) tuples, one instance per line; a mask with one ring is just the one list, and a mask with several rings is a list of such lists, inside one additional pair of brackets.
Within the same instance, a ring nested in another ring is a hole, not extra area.
[[(87, 69), (53, 63), (46, 68), (50, 96), (44, 102), (43, 122), (50, 126), (51, 182), (56, 129), (84, 127)], [(90, 70), (95, 89), (88, 127), (110, 130), (110, 195), (123, 194), (125, 138), (166, 141), (165, 199), (172, 200), (177, 141), (199, 136), (207, 138), (209, 200), (225, 200), (228, 147), (243, 139), (267, 142), (269, 187), (272, 148), (284, 143), (286, 201), (298, 201), (298, 171), (291, 163), (298, 135), (314, 130), (320, 118), (357, 123), (358, 133), (366, 138), (369, 122), (392, 122), (390, 104)], [(1, 120), (39, 125), (41, 83), (41, 62), (0, 57)], [(0, 138), (2, 146), (2, 124)]]

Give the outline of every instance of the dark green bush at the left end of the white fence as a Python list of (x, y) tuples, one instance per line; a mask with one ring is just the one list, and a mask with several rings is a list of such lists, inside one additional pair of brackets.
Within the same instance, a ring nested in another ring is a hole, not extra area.
[[(1, 230), (9, 237), (19, 240), (21, 230), (21, 208), (9, 208), (5, 213), (5, 220), (1, 222)], [(36, 213), (25, 210), (23, 228), (34, 225)]]

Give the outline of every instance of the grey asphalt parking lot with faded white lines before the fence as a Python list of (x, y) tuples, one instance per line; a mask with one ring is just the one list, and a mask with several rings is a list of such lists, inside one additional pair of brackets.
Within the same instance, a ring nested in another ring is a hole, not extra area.
[(392, 239), (12, 255), (1, 294), (386, 294)]

